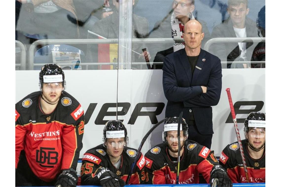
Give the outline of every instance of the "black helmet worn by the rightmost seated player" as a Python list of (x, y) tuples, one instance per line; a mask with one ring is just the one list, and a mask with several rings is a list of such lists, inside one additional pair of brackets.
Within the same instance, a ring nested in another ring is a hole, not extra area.
[(265, 128), (265, 114), (262, 112), (251, 112), (244, 123), (244, 135), (248, 133), (250, 127)]

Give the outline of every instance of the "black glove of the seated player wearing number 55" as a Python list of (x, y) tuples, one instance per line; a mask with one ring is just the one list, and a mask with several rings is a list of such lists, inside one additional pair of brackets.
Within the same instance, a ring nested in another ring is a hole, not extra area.
[(98, 168), (95, 177), (98, 177), (101, 186), (125, 186), (125, 182), (108, 168)]

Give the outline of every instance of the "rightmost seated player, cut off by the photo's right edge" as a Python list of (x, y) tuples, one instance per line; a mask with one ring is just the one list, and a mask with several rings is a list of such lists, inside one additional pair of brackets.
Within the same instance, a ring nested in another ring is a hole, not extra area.
[[(251, 112), (244, 123), (242, 140), (249, 183), (265, 183), (265, 114)], [(223, 149), (219, 163), (233, 183), (247, 183), (238, 142)]]

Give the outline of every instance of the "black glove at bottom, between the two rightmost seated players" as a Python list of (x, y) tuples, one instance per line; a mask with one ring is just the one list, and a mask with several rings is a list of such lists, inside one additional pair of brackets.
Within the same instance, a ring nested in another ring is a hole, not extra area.
[[(215, 185), (217, 183), (217, 185)], [(221, 165), (215, 165), (210, 175), (210, 186), (232, 186), (232, 182), (228, 177), (225, 168)]]

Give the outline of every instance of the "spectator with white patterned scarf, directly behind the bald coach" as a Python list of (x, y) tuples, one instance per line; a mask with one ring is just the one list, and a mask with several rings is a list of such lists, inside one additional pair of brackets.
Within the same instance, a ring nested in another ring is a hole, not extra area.
[[(194, 0), (174, 0), (172, 10), (162, 20), (158, 21), (149, 36), (149, 38), (183, 38), (184, 25), (192, 19), (196, 19), (192, 12), (194, 11)], [(210, 39), (209, 30), (204, 21), (199, 20), (202, 24), (205, 37), (202, 46)], [(151, 44), (150, 53), (153, 62), (163, 62), (166, 55), (177, 50), (183, 49), (184, 43), (153, 43)], [(162, 69), (163, 65), (156, 65), (157, 69)]]

